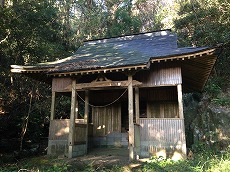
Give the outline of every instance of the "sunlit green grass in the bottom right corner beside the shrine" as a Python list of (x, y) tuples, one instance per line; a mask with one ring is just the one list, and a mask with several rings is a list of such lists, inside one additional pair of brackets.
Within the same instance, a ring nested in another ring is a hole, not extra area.
[(172, 161), (170, 159), (152, 158), (141, 171), (150, 172), (203, 172), (229, 171), (230, 154), (195, 154), (193, 160)]

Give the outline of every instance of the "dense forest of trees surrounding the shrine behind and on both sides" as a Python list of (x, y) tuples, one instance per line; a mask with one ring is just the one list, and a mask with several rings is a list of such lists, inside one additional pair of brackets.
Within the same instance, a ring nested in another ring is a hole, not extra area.
[(12, 75), (10, 65), (62, 59), (86, 40), (162, 29), (177, 33), (179, 46), (222, 47), (203, 92), (184, 95), (184, 113), (190, 148), (227, 149), (229, 20), (228, 0), (0, 0), (0, 153), (48, 137), (51, 88)]

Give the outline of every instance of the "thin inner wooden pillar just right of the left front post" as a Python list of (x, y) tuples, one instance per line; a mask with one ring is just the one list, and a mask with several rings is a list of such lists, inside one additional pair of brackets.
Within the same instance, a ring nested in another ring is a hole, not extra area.
[(84, 123), (86, 124), (86, 134), (85, 134), (85, 141), (86, 141), (86, 154), (88, 150), (88, 127), (89, 127), (89, 91), (85, 91), (85, 114), (84, 114)]

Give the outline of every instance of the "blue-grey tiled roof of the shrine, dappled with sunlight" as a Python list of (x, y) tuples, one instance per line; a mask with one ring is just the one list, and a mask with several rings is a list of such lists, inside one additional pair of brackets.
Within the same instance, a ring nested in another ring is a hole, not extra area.
[[(24, 70), (46, 70), (48, 73), (107, 69), (147, 65), (149, 60), (195, 53), (207, 49), (178, 48), (177, 36), (169, 30), (85, 42), (74, 55), (35, 66), (12, 66)], [(47, 70), (48, 69), (48, 70)]]

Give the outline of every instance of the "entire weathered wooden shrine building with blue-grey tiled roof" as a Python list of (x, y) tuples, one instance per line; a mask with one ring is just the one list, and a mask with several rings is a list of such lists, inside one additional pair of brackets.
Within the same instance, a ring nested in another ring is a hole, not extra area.
[[(184, 158), (182, 93), (203, 89), (216, 50), (178, 48), (177, 36), (162, 30), (87, 41), (68, 58), (11, 71), (52, 84), (48, 154), (117, 146), (129, 148), (130, 160)], [(69, 119), (55, 118), (58, 93), (71, 97)]]

